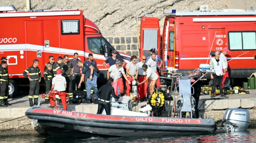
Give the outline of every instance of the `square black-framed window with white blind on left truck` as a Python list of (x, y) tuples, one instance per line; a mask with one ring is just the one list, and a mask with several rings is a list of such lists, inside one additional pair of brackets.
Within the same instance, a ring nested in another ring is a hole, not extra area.
[(61, 34), (80, 34), (79, 20), (61, 20)]

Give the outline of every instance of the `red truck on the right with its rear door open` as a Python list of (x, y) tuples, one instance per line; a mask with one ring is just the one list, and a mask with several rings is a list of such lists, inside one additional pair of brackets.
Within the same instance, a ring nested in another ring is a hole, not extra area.
[(230, 50), (227, 60), (231, 80), (226, 86), (233, 79), (247, 78), (256, 71), (256, 11), (253, 9), (208, 10), (204, 5), (198, 11), (172, 10), (164, 14), (162, 35), (156, 17), (141, 17), (140, 29), (140, 56), (149, 56), (148, 50), (157, 49), (165, 63), (162, 81), (168, 79), (167, 67), (189, 74), (200, 64), (209, 64), (209, 57), (224, 48)]

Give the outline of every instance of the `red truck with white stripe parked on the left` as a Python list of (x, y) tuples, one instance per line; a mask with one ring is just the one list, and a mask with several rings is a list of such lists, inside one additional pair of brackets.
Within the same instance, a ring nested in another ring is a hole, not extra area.
[[(10, 85), (9, 95), (17, 92), (17, 85), (25, 84), (22, 72), (39, 60), (41, 72), (49, 56), (78, 53), (81, 61), (94, 55), (101, 70), (98, 80), (106, 81), (102, 63), (111, 55), (113, 46), (102, 36), (99, 28), (85, 18), (82, 10), (29, 10), (16, 12), (14, 6), (0, 7), (0, 57), (7, 57)], [(130, 55), (117, 56), (129, 60)]]

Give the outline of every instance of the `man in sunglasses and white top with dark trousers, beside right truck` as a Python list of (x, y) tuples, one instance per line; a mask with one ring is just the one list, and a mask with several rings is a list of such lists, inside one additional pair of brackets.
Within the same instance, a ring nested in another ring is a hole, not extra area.
[(226, 97), (223, 94), (222, 89), (222, 78), (223, 78), (223, 72), (222, 69), (224, 69), (224, 74), (226, 74), (227, 67), (224, 64), (224, 60), (220, 58), (220, 52), (215, 52), (215, 57), (211, 58), (210, 67), (213, 68), (213, 73), (211, 73), (211, 79), (213, 80), (212, 83), (212, 91), (211, 91), (211, 98), (214, 97), (215, 87), (218, 80), (219, 88), (220, 88), (220, 97)]

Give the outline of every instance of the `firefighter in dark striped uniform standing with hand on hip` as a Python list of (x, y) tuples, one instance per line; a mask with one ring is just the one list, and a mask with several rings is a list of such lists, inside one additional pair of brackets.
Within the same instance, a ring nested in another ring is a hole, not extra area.
[[(38, 96), (39, 96), (39, 83), (41, 81), (41, 71), (37, 67), (38, 66), (38, 60), (33, 60), (33, 65), (29, 68), (27, 68), (23, 72), (23, 76), (25, 78), (28, 78), (30, 81), (29, 85), (29, 106), (33, 106), (33, 96), (34, 96), (34, 105), (38, 105)], [(27, 76), (29, 74), (29, 77)]]

